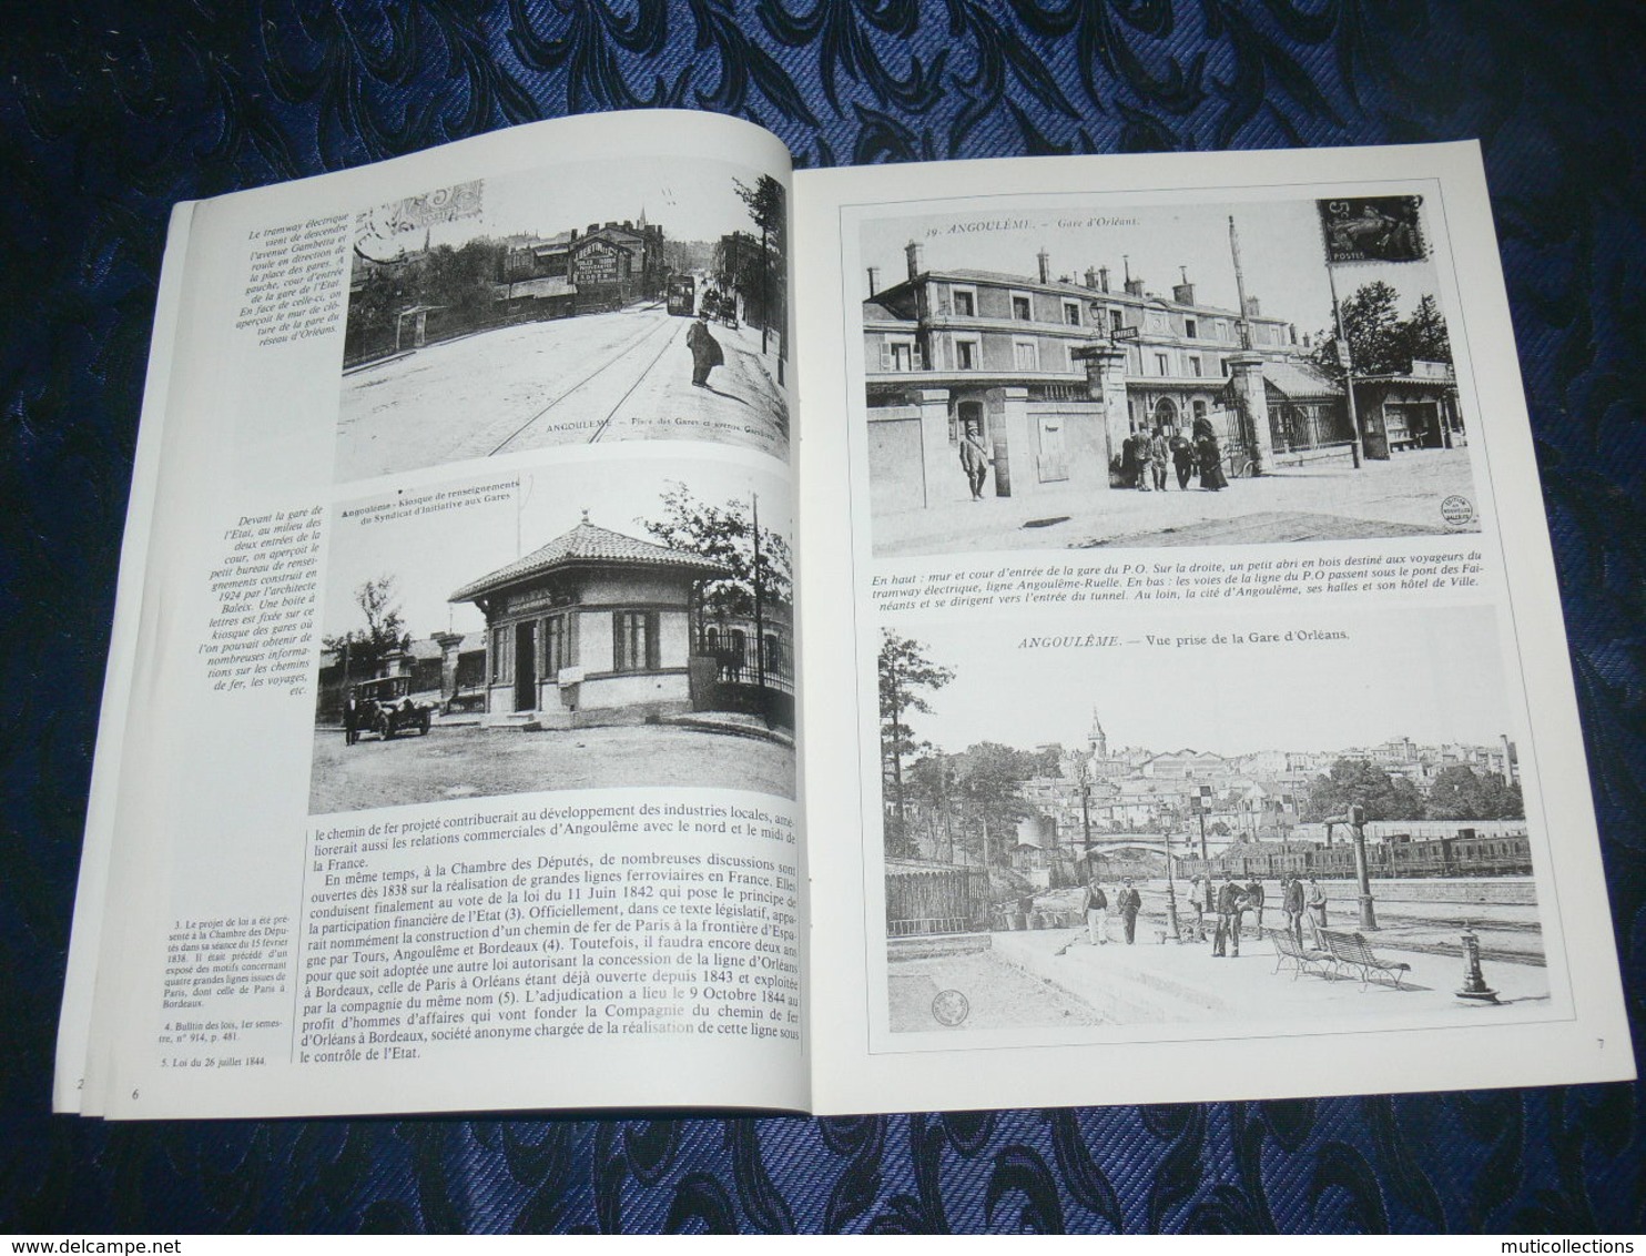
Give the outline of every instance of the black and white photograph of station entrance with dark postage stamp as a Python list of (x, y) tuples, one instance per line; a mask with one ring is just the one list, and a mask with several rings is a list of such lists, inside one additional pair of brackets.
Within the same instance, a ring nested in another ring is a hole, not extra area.
[(1424, 198), (859, 229), (876, 556), (1480, 530)]

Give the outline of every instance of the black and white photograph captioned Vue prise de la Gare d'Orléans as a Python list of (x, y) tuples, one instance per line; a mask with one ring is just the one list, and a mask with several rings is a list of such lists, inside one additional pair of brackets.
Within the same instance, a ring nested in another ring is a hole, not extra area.
[(877, 665), (892, 1035), (1549, 1012), (1490, 609)]

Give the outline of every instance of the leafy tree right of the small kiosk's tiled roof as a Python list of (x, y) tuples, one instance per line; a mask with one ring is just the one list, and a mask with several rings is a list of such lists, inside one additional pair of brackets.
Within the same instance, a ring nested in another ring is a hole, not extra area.
[[(714, 558), (731, 568), (723, 579), (703, 584), (698, 594), (700, 621), (754, 614), (756, 578), (760, 601), (767, 609), (790, 611), (793, 598), (793, 560), (788, 542), (760, 527), (760, 561), (756, 566), (754, 502), (729, 500), (709, 505), (680, 481), (670, 481), (663, 494), (663, 517), (640, 520), (640, 525), (670, 550)], [(703, 624), (700, 622), (700, 630)]]

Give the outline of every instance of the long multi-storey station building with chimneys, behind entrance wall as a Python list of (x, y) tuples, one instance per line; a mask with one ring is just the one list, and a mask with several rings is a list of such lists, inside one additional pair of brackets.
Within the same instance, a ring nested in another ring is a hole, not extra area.
[[(877, 512), (965, 500), (956, 468), (968, 428), (991, 451), (999, 497), (1108, 489), (1128, 435), (1188, 433), (1200, 418), (1234, 474), (1346, 461), (1356, 443), (1343, 385), (1256, 296), (1243, 311), (1207, 305), (1187, 272), (1170, 298), (1131, 273), (1116, 283), (1108, 267), (1053, 278), (1045, 250), (1032, 275), (928, 270), (915, 242), (905, 262), (890, 286), (871, 268), (863, 303)], [(1462, 440), (1448, 364), (1360, 382), (1363, 393), (1368, 458)]]

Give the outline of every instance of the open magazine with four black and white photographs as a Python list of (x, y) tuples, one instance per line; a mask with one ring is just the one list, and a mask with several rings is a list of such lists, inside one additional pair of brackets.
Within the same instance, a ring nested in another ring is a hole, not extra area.
[(1628, 1077), (1473, 145), (176, 207), (59, 1109)]

